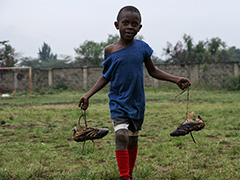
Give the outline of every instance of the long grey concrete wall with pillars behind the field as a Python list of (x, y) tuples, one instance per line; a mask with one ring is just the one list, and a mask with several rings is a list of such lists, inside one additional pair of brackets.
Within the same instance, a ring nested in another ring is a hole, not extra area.
[[(214, 64), (159, 64), (157, 68), (177, 76), (187, 77), (192, 83), (205, 83), (220, 86), (222, 78), (240, 73), (239, 63)], [(33, 69), (32, 88), (55, 86), (65, 84), (70, 89), (89, 89), (102, 75), (102, 67)], [(144, 81), (146, 86), (159, 87), (163, 81), (153, 79), (144, 68)], [(28, 69), (0, 70), (0, 93), (29, 88)]]

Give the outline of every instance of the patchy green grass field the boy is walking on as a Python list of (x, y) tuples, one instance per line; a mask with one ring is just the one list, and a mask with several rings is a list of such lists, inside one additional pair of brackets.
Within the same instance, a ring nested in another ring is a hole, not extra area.
[[(146, 117), (139, 138), (135, 180), (240, 179), (240, 92), (192, 87), (189, 112), (206, 126), (191, 136), (169, 133), (185, 119), (186, 93), (146, 89)], [(92, 97), (88, 125), (109, 134), (93, 145), (73, 141), (84, 92), (16, 94), (0, 99), (0, 179), (115, 180), (114, 131), (107, 89)]]

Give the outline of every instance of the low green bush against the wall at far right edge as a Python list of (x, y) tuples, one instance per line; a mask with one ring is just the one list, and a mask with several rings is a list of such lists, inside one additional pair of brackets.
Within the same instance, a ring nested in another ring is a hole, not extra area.
[(224, 77), (221, 80), (221, 86), (231, 91), (240, 91), (240, 74)]

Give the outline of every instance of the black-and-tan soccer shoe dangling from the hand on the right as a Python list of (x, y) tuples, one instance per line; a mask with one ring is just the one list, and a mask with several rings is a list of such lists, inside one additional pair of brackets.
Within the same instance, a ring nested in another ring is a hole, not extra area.
[(170, 133), (171, 136), (184, 136), (191, 131), (199, 131), (204, 128), (205, 123), (200, 117), (197, 115), (197, 119), (194, 120), (194, 112), (190, 113), (188, 118), (178, 126), (176, 130)]

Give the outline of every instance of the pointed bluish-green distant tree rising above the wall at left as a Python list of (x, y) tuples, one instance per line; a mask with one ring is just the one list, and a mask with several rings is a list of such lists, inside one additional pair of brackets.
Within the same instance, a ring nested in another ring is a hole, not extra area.
[(51, 47), (45, 42), (43, 42), (42, 48), (39, 49), (38, 55), (39, 59), (43, 62), (48, 62), (57, 59), (57, 54), (51, 53)]

